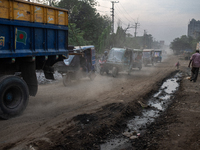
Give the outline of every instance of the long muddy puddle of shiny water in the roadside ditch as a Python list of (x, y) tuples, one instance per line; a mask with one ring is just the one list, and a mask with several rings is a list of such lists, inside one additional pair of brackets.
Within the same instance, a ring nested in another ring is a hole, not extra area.
[[(181, 73), (175, 74), (172, 78), (163, 82), (158, 92), (154, 93), (147, 101), (147, 104), (141, 104), (144, 108), (141, 116), (127, 121), (127, 128), (118, 135), (117, 138), (109, 139), (104, 144), (100, 145), (101, 150), (121, 150), (132, 147), (131, 140), (141, 136), (145, 132), (148, 125), (155, 121), (160, 113), (165, 111), (168, 105), (172, 102), (175, 92), (180, 85)], [(132, 149), (134, 149), (132, 147)]]

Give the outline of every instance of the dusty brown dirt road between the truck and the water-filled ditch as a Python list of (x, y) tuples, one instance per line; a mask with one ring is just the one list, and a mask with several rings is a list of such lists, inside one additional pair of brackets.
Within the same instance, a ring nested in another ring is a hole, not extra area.
[[(137, 101), (144, 101), (148, 93), (157, 90), (175, 71), (176, 62), (176, 56), (170, 56), (155, 66), (135, 69), (131, 75), (97, 75), (94, 81), (82, 79), (70, 87), (64, 87), (62, 81), (40, 85), (21, 116), (0, 120), (0, 149), (86, 149), (83, 144), (91, 142), (92, 133), (100, 134), (102, 129), (116, 125), (123, 114), (139, 113)], [(91, 113), (95, 115), (85, 124), (92, 126), (80, 127), (78, 122), (85, 121), (83, 114)], [(83, 137), (87, 142), (81, 142)]]

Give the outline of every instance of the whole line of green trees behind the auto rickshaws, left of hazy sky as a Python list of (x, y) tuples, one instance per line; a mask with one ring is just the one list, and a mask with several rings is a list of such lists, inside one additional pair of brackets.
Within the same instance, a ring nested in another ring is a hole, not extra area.
[(61, 0), (57, 4), (69, 11), (69, 45), (95, 45), (99, 53), (111, 47), (139, 49), (143, 45), (151, 46), (151, 35), (133, 37), (126, 33), (129, 26), (126, 29), (118, 26), (117, 32), (110, 34), (110, 18), (97, 13), (95, 5), (96, 0)]

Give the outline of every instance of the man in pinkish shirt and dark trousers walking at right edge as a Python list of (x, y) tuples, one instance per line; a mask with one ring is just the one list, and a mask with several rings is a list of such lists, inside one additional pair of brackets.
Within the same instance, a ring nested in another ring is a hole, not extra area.
[(196, 50), (196, 53), (192, 55), (190, 58), (190, 62), (188, 67), (190, 68), (190, 64), (192, 63), (191, 69), (191, 78), (190, 81), (196, 82), (198, 74), (199, 74), (199, 67), (200, 67), (200, 54), (199, 50)]

